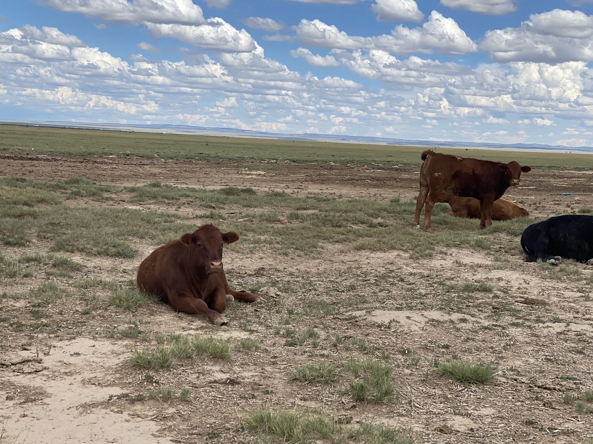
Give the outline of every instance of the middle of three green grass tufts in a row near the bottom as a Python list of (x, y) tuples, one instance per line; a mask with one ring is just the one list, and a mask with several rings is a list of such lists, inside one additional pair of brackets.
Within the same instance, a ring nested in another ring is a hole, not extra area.
[(356, 378), (350, 382), (349, 392), (355, 401), (384, 403), (396, 394), (391, 381), (391, 367), (387, 364), (350, 358), (346, 368)]

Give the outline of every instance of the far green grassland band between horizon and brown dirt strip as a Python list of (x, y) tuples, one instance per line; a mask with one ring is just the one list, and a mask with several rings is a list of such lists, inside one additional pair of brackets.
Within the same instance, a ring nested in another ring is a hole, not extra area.
[[(67, 155), (130, 155), (200, 160), (282, 159), (293, 162), (420, 165), (426, 147), (321, 141), (248, 139), (245, 137), (139, 133), (72, 128), (0, 125), (0, 150)], [(538, 168), (592, 168), (593, 156), (484, 149), (442, 149), (464, 157)]]

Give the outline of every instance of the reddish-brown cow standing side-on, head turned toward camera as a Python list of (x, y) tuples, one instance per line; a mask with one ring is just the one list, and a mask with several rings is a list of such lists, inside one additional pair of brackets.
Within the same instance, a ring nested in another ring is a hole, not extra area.
[(424, 229), (431, 231), (432, 208), (441, 192), (480, 201), (480, 227), (492, 225), (492, 204), (502, 197), (509, 186), (519, 185), (521, 172), (529, 166), (517, 162), (497, 163), (467, 159), (426, 150), (420, 156), (420, 192), (416, 198), (414, 223), (420, 225), (420, 211), (426, 204)]

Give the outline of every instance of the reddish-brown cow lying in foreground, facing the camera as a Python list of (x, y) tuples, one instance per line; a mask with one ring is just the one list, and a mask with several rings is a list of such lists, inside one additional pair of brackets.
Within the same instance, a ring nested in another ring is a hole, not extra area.
[(234, 291), (228, 286), (222, 268), (222, 246), (238, 239), (237, 233), (221, 233), (213, 225), (184, 234), (181, 239), (158, 247), (142, 261), (138, 287), (160, 296), (176, 311), (203, 314), (215, 325), (227, 324), (222, 315), (227, 308), (227, 295), (247, 303), (263, 301), (258, 295)]

